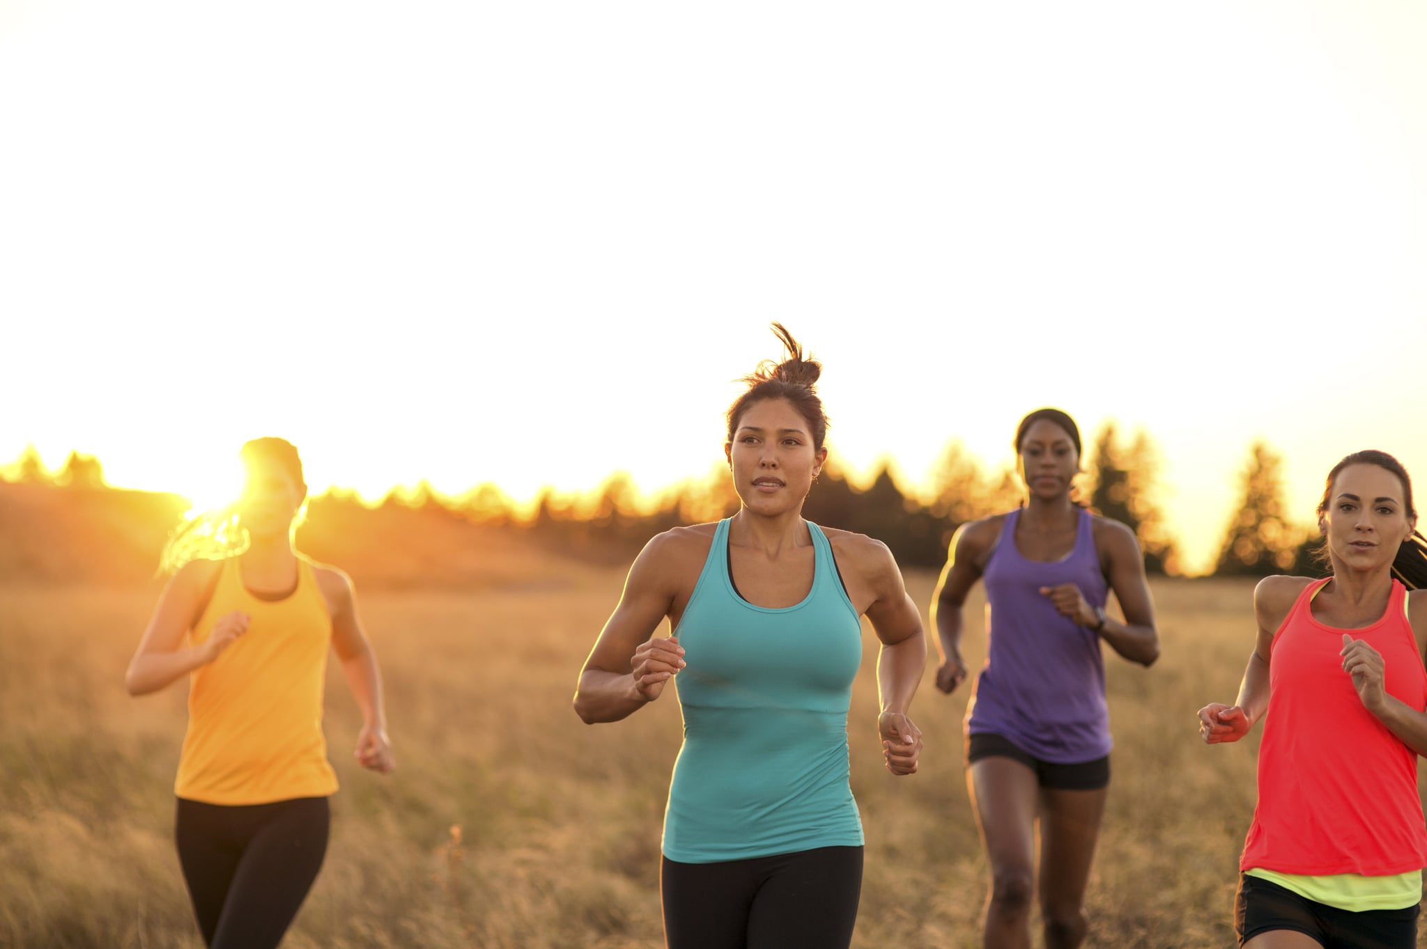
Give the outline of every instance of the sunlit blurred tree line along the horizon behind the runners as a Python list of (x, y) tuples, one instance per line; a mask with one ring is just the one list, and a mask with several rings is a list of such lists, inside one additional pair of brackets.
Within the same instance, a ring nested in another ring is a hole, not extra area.
[[(1123, 436), (1113, 422), (1092, 439), (1076, 500), (1127, 524), (1139, 537), (1152, 574), (1180, 573), (1179, 550), (1163, 516), (1159, 452), (1143, 430)], [(0, 467), (0, 480), (44, 483), (68, 489), (104, 489), (98, 459), (71, 452), (57, 472), (47, 472), (33, 446)], [(956, 529), (977, 517), (1016, 507), (1025, 497), (1017, 473), (987, 470), (960, 442), (943, 450), (922, 493), (905, 490), (883, 463), (859, 487), (835, 463), (823, 467), (803, 506), (816, 523), (865, 533), (888, 544), (903, 566), (939, 567)], [(313, 514), (324, 506), (355, 506), (355, 493), (332, 490), (313, 499)], [(547, 489), (527, 512), (495, 484), (479, 484), (459, 497), (430, 483), (394, 489), (381, 502), (440, 510), (465, 520), (522, 531), (542, 544), (586, 559), (625, 561), (654, 534), (679, 524), (716, 520), (738, 510), (728, 472), (711, 469), (649, 500), (626, 473), (615, 473), (596, 490), (559, 494)], [(1267, 576), (1317, 573), (1317, 531), (1286, 513), (1283, 459), (1266, 443), (1250, 446), (1240, 474), (1240, 494), (1220, 544), (1214, 573)]]

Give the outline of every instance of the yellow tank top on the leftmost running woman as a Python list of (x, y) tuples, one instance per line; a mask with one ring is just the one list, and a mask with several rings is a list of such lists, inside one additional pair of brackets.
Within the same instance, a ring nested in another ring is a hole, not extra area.
[(248, 614), (247, 633), (190, 674), (174, 794), (230, 805), (332, 794), (337, 774), (323, 737), (332, 621), (311, 561), (298, 557), (297, 588), (268, 601), (244, 588), (238, 557), (224, 560), (190, 644), (234, 610)]

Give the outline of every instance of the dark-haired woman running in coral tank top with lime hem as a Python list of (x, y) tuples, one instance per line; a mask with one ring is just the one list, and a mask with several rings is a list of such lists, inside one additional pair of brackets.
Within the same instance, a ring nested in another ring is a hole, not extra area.
[(1427, 553), (1407, 472), (1356, 452), (1319, 503), (1333, 576), (1266, 577), (1233, 705), (1199, 710), (1209, 744), (1264, 720), (1259, 804), (1239, 862), (1247, 949), (1413, 949), (1427, 866)]

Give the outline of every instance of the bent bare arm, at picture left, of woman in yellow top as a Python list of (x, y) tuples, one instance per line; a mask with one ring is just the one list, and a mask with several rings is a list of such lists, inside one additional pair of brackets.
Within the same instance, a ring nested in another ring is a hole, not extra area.
[(208, 583), (218, 569), (220, 564), (211, 560), (195, 560), (184, 564), (168, 580), (124, 673), (124, 687), (130, 695), (147, 695), (171, 685), (200, 665), (218, 658), (223, 650), (247, 630), (247, 614), (230, 613), (215, 624), (207, 640), (198, 645), (183, 645), (184, 636), (197, 618)]

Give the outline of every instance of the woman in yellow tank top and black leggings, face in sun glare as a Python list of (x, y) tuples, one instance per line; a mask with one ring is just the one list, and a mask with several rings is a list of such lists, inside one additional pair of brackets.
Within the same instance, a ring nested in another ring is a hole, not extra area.
[[(357, 759), (392, 768), (377, 658), (351, 581), (293, 547), (307, 484), (283, 439), (243, 446), (243, 497), (218, 526), (240, 553), (204, 557), (188, 524), (164, 551), (173, 570), (128, 664), (130, 694), (188, 675), (174, 836), (204, 943), (270, 949), (297, 915), (327, 851), (337, 775), (323, 737), (328, 647), (362, 714)], [(215, 526), (211, 522), (208, 526)], [(208, 551), (224, 546), (208, 541)]]

